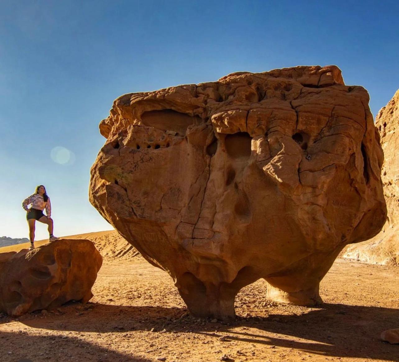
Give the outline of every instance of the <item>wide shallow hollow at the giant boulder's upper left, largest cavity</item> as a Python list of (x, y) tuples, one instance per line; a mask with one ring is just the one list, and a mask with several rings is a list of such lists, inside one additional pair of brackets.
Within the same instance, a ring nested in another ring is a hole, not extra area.
[(202, 123), (201, 118), (198, 116), (191, 116), (170, 109), (144, 112), (141, 115), (141, 120), (148, 127), (154, 127), (162, 131), (175, 131), (183, 135), (189, 125)]

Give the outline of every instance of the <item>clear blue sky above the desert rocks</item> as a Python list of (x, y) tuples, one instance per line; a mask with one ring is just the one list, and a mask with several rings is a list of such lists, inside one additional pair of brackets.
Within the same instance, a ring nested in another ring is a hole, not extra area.
[(0, 236), (27, 237), (21, 201), (38, 184), (56, 235), (112, 228), (88, 185), (121, 94), (335, 64), (375, 115), (399, 88), (397, 1), (0, 1), (0, 14)]

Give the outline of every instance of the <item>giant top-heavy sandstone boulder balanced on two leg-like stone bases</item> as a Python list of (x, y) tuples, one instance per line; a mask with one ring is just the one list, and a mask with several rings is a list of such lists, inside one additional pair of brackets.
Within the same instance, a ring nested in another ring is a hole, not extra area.
[(318, 303), (340, 250), (386, 218), (368, 101), (335, 66), (125, 94), (100, 123), (90, 201), (194, 315), (234, 315), (259, 278), (269, 297)]

